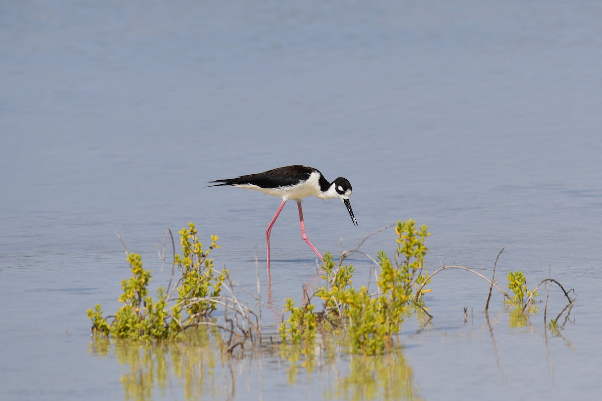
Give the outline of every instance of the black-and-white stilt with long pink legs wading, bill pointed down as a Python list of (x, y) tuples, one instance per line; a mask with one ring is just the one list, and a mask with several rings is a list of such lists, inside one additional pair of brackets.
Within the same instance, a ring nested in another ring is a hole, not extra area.
[(353, 221), (354, 225), (358, 225), (358, 221), (353, 216), (351, 210), (351, 204), (349, 203), (349, 196), (351, 196), (352, 187), (349, 181), (343, 177), (339, 177), (332, 182), (328, 182), (320, 171), (308, 166), (286, 166), (278, 167), (277, 169), (264, 171), (262, 173), (241, 175), (237, 178), (229, 179), (217, 179), (219, 182), (216, 185), (209, 185), (210, 187), (217, 187), (219, 185), (231, 185), (232, 187), (249, 188), (268, 195), (282, 197), (282, 204), (276, 211), (276, 214), (272, 218), (270, 225), (265, 230), (265, 242), (267, 243), (267, 267), (270, 268), (270, 232), (272, 232), (272, 226), (278, 219), (278, 215), (282, 211), (284, 204), (287, 200), (294, 199), (297, 201), (299, 207), (299, 222), (301, 225), (301, 238), (306, 244), (311, 247), (316, 255), (320, 255), (317, 249), (309, 242), (307, 235), (305, 234), (305, 224), (303, 223), (303, 210), (301, 208), (301, 199), (306, 196), (316, 196), (320, 199), (330, 199), (331, 197), (338, 197), (343, 200), (349, 216)]

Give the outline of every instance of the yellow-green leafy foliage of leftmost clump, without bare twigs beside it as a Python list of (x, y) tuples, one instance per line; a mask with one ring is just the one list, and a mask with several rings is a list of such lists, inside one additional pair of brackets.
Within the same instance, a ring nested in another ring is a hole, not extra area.
[(208, 259), (209, 251), (216, 245), (217, 236), (211, 236), (211, 246), (203, 250), (202, 243), (196, 237), (194, 223), (179, 232), (181, 235), (182, 255), (175, 255), (174, 264), (178, 265), (181, 279), (178, 282), (178, 298), (169, 306), (168, 295), (163, 288), (157, 289), (157, 297), (148, 293), (151, 271), (144, 270), (140, 255), (129, 253), (132, 276), (121, 282), (123, 293), (119, 302), (123, 306), (114, 315), (113, 322), (107, 322), (102, 316), (102, 307), (96, 305), (88, 309), (88, 318), (92, 319), (92, 330), (104, 336), (160, 340), (175, 337), (182, 331), (182, 309), (187, 314), (186, 324), (197, 321), (216, 309), (215, 299), (219, 297), (222, 283), (228, 272), (217, 273), (213, 261)]

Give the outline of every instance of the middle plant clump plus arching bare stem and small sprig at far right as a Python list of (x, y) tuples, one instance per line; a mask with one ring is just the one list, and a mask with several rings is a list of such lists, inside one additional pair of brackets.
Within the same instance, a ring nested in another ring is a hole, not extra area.
[[(430, 235), (427, 226), (422, 225), (417, 228), (415, 221), (411, 219), (407, 222), (398, 222), (396, 234), (397, 249), (393, 260), (388, 258), (385, 252), (381, 251), (378, 254), (379, 273), (374, 292), (370, 292), (366, 286), (361, 286), (359, 289), (352, 286), (355, 268), (353, 265), (343, 264), (343, 259), (349, 256), (349, 253), (343, 252), (338, 265), (335, 265), (332, 255), (326, 253), (321, 276), (325, 284), (316, 288), (302, 307), (294, 306), (291, 298), (285, 300), (284, 312), (290, 315), (288, 319), (283, 319), (279, 328), (283, 342), (287, 340), (293, 344), (306, 342), (306, 346), (309, 346), (318, 332), (334, 330), (335, 333), (341, 334), (343, 343), (349, 346), (351, 352), (367, 355), (388, 352), (397, 344), (397, 335), (404, 317), (408, 315), (409, 307), (414, 306), (415, 309), (423, 310), (429, 316), (427, 322), (430, 321), (432, 316), (424, 308), (423, 300), (423, 295), (430, 292), (430, 289), (425, 287), (429, 285), (435, 274), (450, 268), (469, 271), (489, 283), (491, 288), (485, 310), (489, 307), (491, 289), (498, 289), (512, 307), (509, 319), (510, 324), (514, 326), (526, 325), (529, 315), (538, 312), (535, 297), (539, 296), (538, 288), (544, 282), (554, 282), (559, 285), (569, 301), (559, 316), (573, 305), (574, 300), (571, 300), (556, 280), (544, 280), (529, 291), (526, 277), (521, 271), (510, 271), (507, 275), (507, 288), (512, 292), (512, 295), (509, 295), (497, 286), (495, 280), (497, 259), (494, 264), (494, 277), (491, 280), (477, 271), (461, 266), (444, 265), (429, 274), (424, 265), (424, 258), (428, 251), (425, 241)], [(322, 301), (319, 311), (316, 311), (312, 304), (314, 297)], [(556, 325), (557, 318), (551, 319), (550, 328), (555, 328)]]

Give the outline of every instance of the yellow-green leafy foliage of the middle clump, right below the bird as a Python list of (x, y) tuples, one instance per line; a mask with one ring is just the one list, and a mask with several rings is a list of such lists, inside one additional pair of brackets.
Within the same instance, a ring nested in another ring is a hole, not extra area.
[[(423, 262), (428, 249), (424, 240), (430, 235), (427, 226), (415, 229), (414, 220), (399, 222), (396, 232), (395, 262), (386, 253), (379, 252), (380, 273), (374, 295), (369, 294), (365, 286), (359, 290), (353, 288), (355, 268), (352, 265), (335, 267), (332, 255), (326, 253), (322, 266), (322, 279), (326, 280), (326, 285), (315, 289), (315, 295), (323, 300), (323, 310), (312, 312), (311, 304), (298, 309), (294, 307), (293, 300), (286, 300), (285, 311), (291, 315), (281, 325), (282, 339), (299, 343), (314, 338), (316, 326), (303, 323), (317, 320), (344, 327), (353, 352), (376, 354), (393, 346), (406, 306), (412, 299), (412, 289), (427, 277)], [(421, 302), (421, 297), (419, 299)]]

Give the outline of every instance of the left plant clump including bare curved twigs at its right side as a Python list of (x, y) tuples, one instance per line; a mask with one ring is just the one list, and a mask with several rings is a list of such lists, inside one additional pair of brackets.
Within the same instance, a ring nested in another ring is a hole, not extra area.
[[(143, 268), (140, 255), (126, 251), (131, 276), (121, 283), (123, 293), (119, 302), (123, 306), (112, 316), (104, 316), (99, 304), (88, 309), (93, 334), (116, 339), (169, 340), (189, 327), (207, 325), (228, 334), (228, 351), (243, 346), (244, 340), (252, 336), (258, 327), (250, 320), (256, 318), (255, 314), (238, 302), (228, 270), (216, 270), (209, 259), (211, 250), (219, 248), (217, 235), (211, 235), (211, 244), (206, 249), (197, 237), (194, 223), (189, 223), (179, 235), (182, 253), (174, 255), (172, 275), (178, 270), (180, 277), (174, 288), (165, 291), (159, 287), (156, 297), (151, 297), (148, 290), (151, 271)], [(222, 295), (225, 288), (229, 297)], [(210, 318), (218, 305), (225, 306), (226, 316), (233, 313), (228, 324), (220, 325)]]

